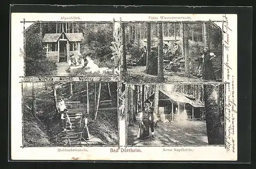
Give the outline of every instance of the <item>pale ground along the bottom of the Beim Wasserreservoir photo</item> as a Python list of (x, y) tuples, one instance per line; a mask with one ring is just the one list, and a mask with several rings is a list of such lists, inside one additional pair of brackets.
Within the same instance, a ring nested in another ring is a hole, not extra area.
[[(127, 82), (157, 82), (156, 76), (145, 73), (145, 66), (128, 67), (125, 80)], [(164, 82), (210, 82), (196, 76), (184, 77), (182, 72), (169, 72), (164, 70)], [(124, 79), (123, 79), (124, 80)]]

